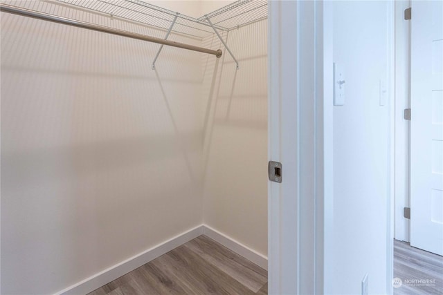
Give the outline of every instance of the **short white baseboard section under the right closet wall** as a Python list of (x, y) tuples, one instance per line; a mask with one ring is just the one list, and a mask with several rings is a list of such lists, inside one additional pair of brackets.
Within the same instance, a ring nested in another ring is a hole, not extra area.
[(256, 265), (262, 267), (262, 269), (268, 269), (268, 258), (263, 254), (258, 253), (257, 251), (246, 247), (241, 242), (226, 236), (226, 234), (209, 227), (208, 225), (203, 225), (203, 234), (212, 238), (216, 242), (219, 242), (224, 247), (230, 249), (231, 251), (243, 256), (244, 258), (250, 260)]

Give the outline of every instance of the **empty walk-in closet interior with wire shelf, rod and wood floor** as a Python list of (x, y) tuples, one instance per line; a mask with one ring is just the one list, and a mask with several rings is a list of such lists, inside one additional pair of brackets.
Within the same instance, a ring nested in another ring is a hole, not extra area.
[(266, 294), (266, 1), (0, 7), (1, 294)]

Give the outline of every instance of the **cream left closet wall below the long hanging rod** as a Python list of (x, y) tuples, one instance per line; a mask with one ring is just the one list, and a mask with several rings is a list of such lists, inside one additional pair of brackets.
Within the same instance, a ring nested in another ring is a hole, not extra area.
[(165, 47), (153, 71), (158, 48), (1, 13), (1, 294), (57, 292), (201, 225), (201, 54)]

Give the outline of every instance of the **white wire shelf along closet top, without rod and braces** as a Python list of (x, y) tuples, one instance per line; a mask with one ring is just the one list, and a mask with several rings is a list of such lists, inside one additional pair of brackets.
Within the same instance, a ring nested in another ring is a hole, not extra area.
[[(61, 9), (55, 8), (57, 3), (68, 5), (72, 8), (82, 8), (91, 12), (99, 12), (109, 17), (118, 17), (145, 26), (168, 30), (178, 15), (177, 21), (172, 27), (172, 32), (189, 35), (192, 37), (204, 38), (213, 35), (214, 30), (206, 17), (210, 19), (214, 27), (220, 31), (228, 31), (245, 26), (248, 23), (266, 19), (267, 2), (263, 0), (239, 0), (230, 3), (208, 15), (199, 17), (189, 17), (179, 12), (174, 12), (159, 6), (154, 6), (142, 0), (53, 0), (53, 1), (3, 1), (8, 5), (27, 8), (42, 12), (45, 6), (51, 6), (51, 14), (62, 16)], [(47, 12), (47, 11), (43, 11)]]

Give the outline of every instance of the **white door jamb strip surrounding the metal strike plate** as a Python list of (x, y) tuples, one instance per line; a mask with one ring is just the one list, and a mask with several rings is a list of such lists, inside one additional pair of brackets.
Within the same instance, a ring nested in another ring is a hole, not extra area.
[[(300, 1), (301, 2), (301, 1)], [(298, 294), (298, 6), (268, 2), (268, 156), (282, 183), (268, 183), (268, 293)]]

